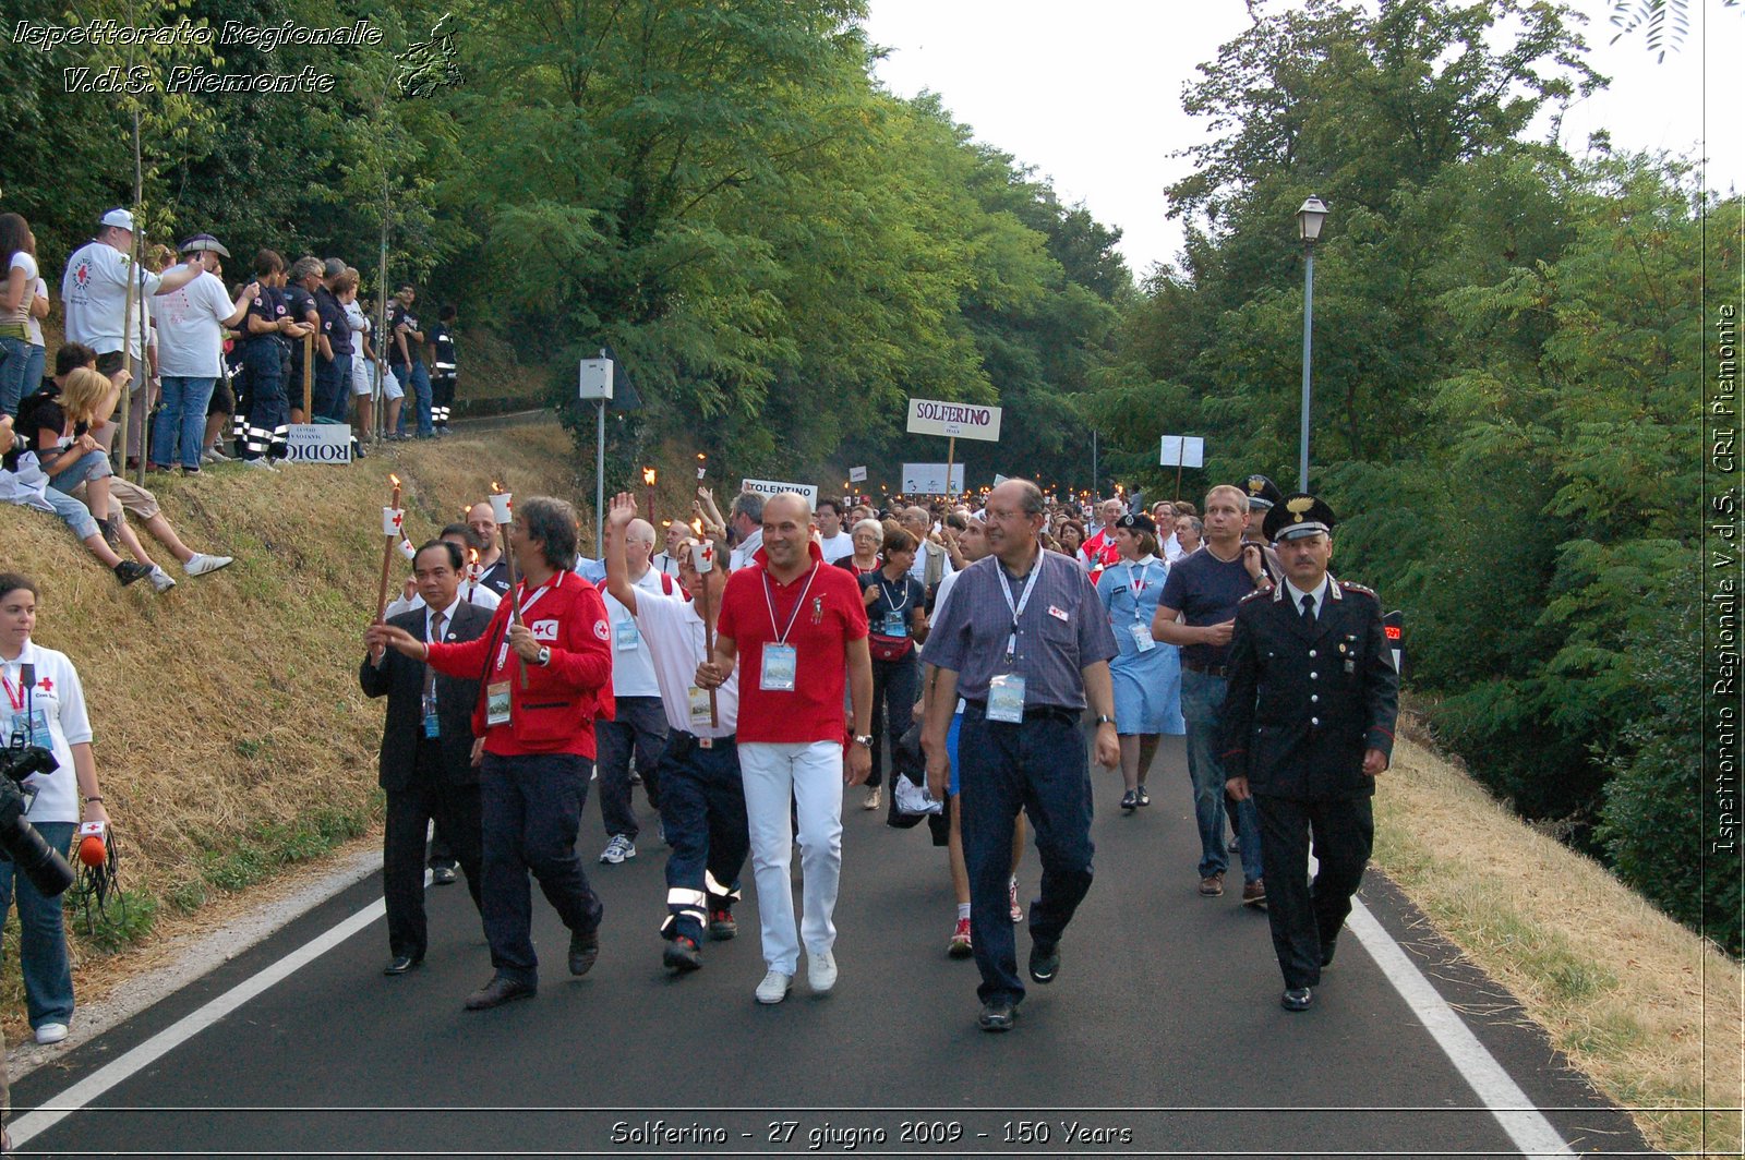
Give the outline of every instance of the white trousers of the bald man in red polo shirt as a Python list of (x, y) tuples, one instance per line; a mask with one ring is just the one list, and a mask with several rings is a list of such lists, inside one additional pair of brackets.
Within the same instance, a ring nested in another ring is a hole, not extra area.
[[(745, 820), (757, 881), (757, 918), (764, 963), (784, 975), (799, 970), (799, 944), (824, 954), (836, 944), (836, 886), (843, 876), (841, 741), (740, 743)], [(794, 926), (789, 877), (794, 830), (789, 802), (799, 809), (801, 921)]]

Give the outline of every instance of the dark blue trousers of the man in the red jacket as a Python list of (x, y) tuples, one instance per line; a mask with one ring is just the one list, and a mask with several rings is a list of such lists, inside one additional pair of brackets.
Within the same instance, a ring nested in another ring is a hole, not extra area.
[(539, 982), (532, 940), (532, 886), (539, 879), (551, 909), (576, 933), (600, 926), (600, 897), (576, 855), (581, 804), (593, 762), (576, 754), (485, 754), (480, 771), (483, 815), (483, 904), (490, 965), (499, 975)]

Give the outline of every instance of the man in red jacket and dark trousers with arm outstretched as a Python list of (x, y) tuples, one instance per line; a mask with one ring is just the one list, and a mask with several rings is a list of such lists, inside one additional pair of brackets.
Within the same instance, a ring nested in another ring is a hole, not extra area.
[(569, 926), (569, 972), (586, 975), (600, 952), (600, 898), (581, 870), (576, 832), (593, 774), (593, 722), (612, 715), (612, 630), (600, 591), (571, 572), (574, 508), (544, 495), (520, 504), (510, 549), (522, 583), (478, 640), (426, 645), (391, 624), (366, 637), (482, 684), (473, 733), (485, 738), (483, 918), (496, 975), (468, 996), (468, 1010), (539, 987), (529, 870)]

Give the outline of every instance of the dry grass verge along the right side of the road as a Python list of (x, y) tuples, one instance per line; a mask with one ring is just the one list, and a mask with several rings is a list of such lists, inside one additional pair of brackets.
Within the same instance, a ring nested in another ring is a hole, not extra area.
[[(1375, 860), (1668, 1151), (1740, 1153), (1740, 965), (1401, 741)], [(1707, 1132), (1707, 1151), (1705, 1151)]]

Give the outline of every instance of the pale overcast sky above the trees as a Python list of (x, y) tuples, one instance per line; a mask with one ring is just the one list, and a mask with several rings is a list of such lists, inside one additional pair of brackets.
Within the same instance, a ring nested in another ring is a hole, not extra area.
[[(1188, 162), (1171, 154), (1206, 140), (1181, 112), (1181, 85), (1246, 28), (1241, 0), (869, 3), (867, 33), (892, 49), (878, 68), (885, 85), (900, 96), (939, 92), (979, 140), (1052, 178), (1063, 201), (1082, 201), (1120, 227), (1136, 276), (1176, 255), (1181, 230), (1166, 216), (1162, 190)], [(1574, 7), (1590, 17), (1590, 65), (1612, 84), (1569, 110), (1564, 145), (1579, 154), (1605, 127), (1614, 148), (1698, 157), (1707, 120), (1708, 187), (1745, 185), (1742, 101), (1728, 87), (1745, 61), (1742, 10), (1691, 0), (1689, 40), (1656, 65), (1640, 31), (1607, 44), (1607, 0)]]

